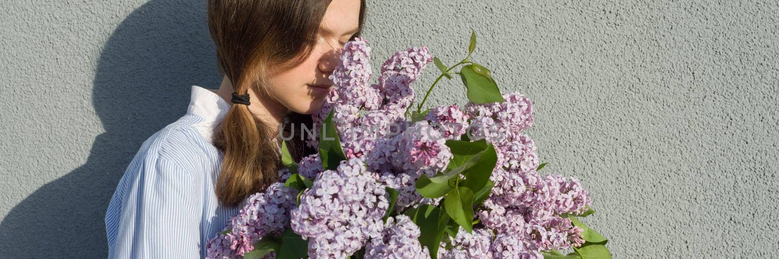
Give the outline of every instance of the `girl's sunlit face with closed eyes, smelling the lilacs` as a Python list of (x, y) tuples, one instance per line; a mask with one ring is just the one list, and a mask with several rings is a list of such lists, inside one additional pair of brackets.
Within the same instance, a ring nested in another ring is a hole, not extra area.
[(298, 66), (272, 75), (270, 93), (288, 110), (313, 114), (330, 92), (330, 74), (340, 58), (340, 49), (357, 33), (360, 0), (333, 0), (319, 24), (312, 53)]

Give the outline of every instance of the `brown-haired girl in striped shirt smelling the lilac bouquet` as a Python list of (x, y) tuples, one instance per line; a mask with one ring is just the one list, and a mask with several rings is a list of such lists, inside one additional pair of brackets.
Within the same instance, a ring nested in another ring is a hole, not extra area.
[[(205, 257), (241, 202), (277, 180), (280, 126), (310, 124), (364, 13), (365, 0), (210, 0), (224, 79), (192, 86), (187, 113), (132, 159), (105, 216), (109, 257)], [(298, 158), (301, 143), (287, 143)]]

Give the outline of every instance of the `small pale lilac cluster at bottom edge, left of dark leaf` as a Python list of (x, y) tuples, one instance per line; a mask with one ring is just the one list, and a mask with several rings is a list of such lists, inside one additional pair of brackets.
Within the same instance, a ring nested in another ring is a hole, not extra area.
[(365, 247), (365, 259), (429, 258), (430, 252), (419, 243), (419, 235), (419, 227), (407, 215), (387, 219), (382, 236)]

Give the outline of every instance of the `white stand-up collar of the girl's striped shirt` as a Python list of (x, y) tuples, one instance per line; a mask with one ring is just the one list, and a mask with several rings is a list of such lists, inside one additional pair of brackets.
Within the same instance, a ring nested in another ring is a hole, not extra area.
[(203, 138), (206, 138), (208, 142), (213, 144), (214, 131), (217, 130), (217, 125), (228, 110), (230, 110), (230, 103), (227, 103), (217, 93), (200, 86), (192, 86), (192, 96), (187, 112), (203, 118), (203, 121), (193, 124), (192, 127), (199, 131), (200, 135), (203, 135)]

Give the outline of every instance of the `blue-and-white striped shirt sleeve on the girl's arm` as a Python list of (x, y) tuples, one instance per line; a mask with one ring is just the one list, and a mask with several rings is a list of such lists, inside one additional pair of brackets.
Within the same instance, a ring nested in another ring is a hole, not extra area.
[(133, 159), (106, 212), (108, 258), (200, 257), (195, 183), (170, 159)]

